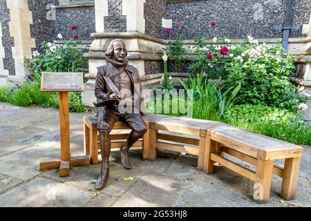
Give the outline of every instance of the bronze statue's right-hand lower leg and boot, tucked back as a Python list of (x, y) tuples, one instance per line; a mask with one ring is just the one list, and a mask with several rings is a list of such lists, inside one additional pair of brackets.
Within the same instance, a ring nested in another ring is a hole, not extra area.
[(132, 169), (131, 161), (129, 160), (129, 148), (135, 144), (142, 137), (142, 133), (131, 131), (127, 137), (126, 143), (120, 148), (120, 157), (122, 165), (125, 169)]

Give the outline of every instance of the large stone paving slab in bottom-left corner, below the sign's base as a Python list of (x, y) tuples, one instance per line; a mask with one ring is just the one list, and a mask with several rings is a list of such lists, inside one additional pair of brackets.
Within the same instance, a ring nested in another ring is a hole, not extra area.
[(35, 177), (0, 195), (0, 206), (84, 206), (91, 192)]

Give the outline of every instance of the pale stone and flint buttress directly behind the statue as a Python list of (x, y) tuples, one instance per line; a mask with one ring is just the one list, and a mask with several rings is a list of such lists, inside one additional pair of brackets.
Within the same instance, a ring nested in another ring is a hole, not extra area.
[(122, 39), (128, 50), (129, 64), (140, 75), (162, 72), (162, 18), (165, 0), (95, 0), (96, 32), (88, 58), (89, 80), (84, 86), (82, 101), (93, 106), (97, 67), (105, 64), (104, 52), (113, 39)]

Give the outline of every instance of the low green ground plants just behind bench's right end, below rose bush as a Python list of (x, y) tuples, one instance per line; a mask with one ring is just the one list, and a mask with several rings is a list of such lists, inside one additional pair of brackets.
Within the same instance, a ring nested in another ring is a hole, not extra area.
[(224, 122), (293, 144), (311, 144), (311, 127), (301, 115), (288, 110), (250, 104), (232, 106)]

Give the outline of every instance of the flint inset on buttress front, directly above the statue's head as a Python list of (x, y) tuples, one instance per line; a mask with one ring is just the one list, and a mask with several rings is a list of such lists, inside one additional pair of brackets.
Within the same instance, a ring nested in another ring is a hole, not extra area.
[(126, 32), (126, 16), (122, 15), (122, 0), (108, 1), (108, 15), (104, 18), (105, 32)]

